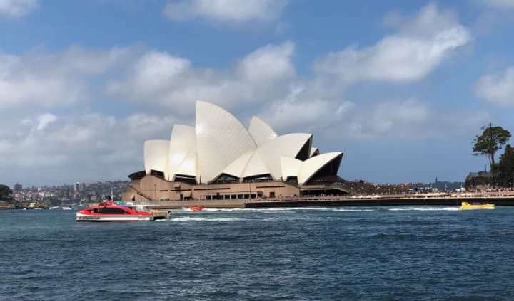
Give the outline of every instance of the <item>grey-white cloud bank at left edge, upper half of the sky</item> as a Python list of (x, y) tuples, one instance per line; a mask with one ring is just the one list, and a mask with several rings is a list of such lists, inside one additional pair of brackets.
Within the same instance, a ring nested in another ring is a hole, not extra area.
[(132, 48), (89, 51), (72, 46), (60, 53), (0, 52), (0, 108), (26, 103), (40, 107), (85, 99), (89, 76), (111, 70)]

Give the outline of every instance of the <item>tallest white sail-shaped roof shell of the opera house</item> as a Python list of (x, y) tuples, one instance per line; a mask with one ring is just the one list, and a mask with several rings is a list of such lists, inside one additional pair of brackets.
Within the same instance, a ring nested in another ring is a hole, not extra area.
[(197, 101), (196, 149), (200, 179), (207, 183), (243, 154), (256, 149), (256, 143), (231, 113), (217, 105)]

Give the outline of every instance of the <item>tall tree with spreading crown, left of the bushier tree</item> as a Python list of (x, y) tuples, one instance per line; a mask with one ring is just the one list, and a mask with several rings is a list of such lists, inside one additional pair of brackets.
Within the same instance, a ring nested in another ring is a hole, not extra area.
[(491, 167), (495, 164), (494, 155), (501, 149), (503, 145), (508, 142), (510, 132), (504, 130), (503, 127), (482, 127), (483, 130), (480, 136), (475, 137), (473, 142), (473, 156), (487, 156)]

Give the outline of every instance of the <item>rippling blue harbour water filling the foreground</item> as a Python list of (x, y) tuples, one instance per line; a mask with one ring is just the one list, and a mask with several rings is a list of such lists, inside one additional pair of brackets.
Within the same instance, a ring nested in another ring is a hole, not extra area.
[(514, 208), (0, 211), (0, 300), (513, 300)]

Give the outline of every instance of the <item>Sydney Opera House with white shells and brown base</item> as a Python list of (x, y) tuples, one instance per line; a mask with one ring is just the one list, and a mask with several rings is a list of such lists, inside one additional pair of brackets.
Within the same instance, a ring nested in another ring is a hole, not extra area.
[(129, 175), (122, 199), (226, 200), (345, 194), (336, 188), (342, 152), (321, 154), (313, 135), (278, 135), (253, 117), (248, 129), (231, 113), (196, 102), (195, 126), (144, 143), (144, 171)]

